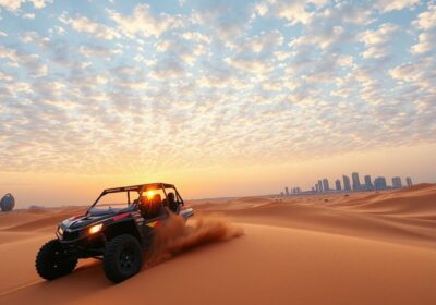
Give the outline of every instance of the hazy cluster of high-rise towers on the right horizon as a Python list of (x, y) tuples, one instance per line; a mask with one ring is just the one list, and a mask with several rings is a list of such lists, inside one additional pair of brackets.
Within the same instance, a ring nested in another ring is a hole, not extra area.
[[(372, 180), (371, 175), (365, 175), (363, 181), (359, 176), (358, 172), (353, 172), (350, 176), (342, 175), (342, 180), (336, 179), (335, 188), (330, 187), (330, 183), (327, 178), (319, 179), (318, 182), (312, 187), (311, 191), (301, 191), (300, 187), (284, 187), (284, 193), (281, 195), (292, 195), (292, 194), (313, 194), (313, 193), (327, 193), (327, 192), (362, 192), (362, 191), (383, 191), (389, 188), (401, 188), (403, 186), (412, 186), (412, 179), (410, 176), (405, 178), (405, 185), (402, 184), (400, 176), (393, 176), (391, 185), (388, 185), (385, 176), (377, 176)], [(291, 190), (291, 192), (289, 192)]]

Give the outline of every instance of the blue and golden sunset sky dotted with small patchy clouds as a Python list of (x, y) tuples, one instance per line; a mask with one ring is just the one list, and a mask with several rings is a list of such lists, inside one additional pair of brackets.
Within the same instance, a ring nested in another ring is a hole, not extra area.
[(436, 182), (436, 2), (0, 0), (0, 196)]

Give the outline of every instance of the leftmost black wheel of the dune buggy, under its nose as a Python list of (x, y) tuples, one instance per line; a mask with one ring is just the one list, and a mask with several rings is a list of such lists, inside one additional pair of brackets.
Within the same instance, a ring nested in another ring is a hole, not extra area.
[(35, 260), (39, 277), (49, 281), (71, 273), (76, 265), (77, 258), (68, 255), (58, 240), (43, 245)]

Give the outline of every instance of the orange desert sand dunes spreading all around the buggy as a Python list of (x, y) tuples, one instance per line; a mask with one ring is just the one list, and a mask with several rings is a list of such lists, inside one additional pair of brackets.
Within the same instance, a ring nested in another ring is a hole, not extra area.
[(94, 259), (36, 274), (39, 246), (80, 208), (0, 213), (0, 304), (436, 304), (435, 184), (187, 205), (194, 219), (164, 229), (120, 284)]

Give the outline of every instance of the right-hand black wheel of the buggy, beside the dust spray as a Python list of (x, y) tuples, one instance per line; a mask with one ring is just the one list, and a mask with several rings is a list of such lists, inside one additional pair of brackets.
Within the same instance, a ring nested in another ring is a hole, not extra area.
[(106, 277), (114, 283), (133, 277), (143, 265), (140, 243), (129, 234), (114, 237), (108, 243), (102, 265)]

